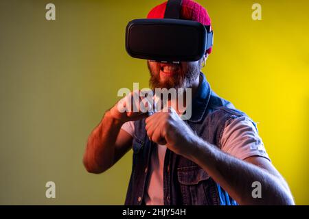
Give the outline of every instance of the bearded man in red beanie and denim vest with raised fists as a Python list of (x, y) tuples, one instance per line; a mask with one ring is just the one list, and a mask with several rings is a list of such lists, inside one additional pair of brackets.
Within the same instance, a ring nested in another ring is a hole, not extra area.
[[(163, 18), (165, 7), (157, 5), (148, 18)], [(205, 8), (190, 0), (183, 1), (181, 18), (210, 25)], [(126, 205), (293, 205), (255, 123), (217, 96), (201, 73), (209, 53), (196, 62), (148, 61), (152, 89), (192, 89), (191, 118), (181, 120), (177, 107), (149, 116), (119, 112), (116, 104), (89, 136), (84, 166), (104, 172), (133, 148)], [(253, 185), (261, 191), (255, 194)]]

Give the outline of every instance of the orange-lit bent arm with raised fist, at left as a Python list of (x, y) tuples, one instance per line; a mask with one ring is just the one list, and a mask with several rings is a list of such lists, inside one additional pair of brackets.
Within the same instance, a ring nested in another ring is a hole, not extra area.
[[(139, 92), (139, 91), (136, 91)], [(134, 92), (119, 101), (120, 107), (126, 109), (120, 112), (118, 103), (105, 112), (100, 124), (91, 132), (83, 163), (88, 172), (101, 173), (113, 166), (132, 147), (133, 137), (121, 129), (130, 120), (139, 120), (147, 114), (141, 113), (141, 99), (135, 103)], [(146, 104), (146, 102), (144, 102)], [(132, 112), (133, 105), (138, 105), (138, 112)]]

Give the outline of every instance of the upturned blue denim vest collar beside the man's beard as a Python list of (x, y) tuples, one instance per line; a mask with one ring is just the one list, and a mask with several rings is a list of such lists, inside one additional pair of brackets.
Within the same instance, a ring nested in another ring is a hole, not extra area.
[(192, 116), (188, 119), (192, 123), (198, 123), (203, 119), (211, 94), (205, 75), (200, 73), (200, 77), (202, 77), (202, 81), (192, 98)]

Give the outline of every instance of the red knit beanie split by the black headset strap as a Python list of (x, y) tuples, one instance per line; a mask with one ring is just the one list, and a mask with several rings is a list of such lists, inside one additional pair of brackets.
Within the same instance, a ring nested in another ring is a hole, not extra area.
[[(164, 3), (155, 6), (155, 8), (152, 8), (152, 10), (150, 10), (150, 12), (148, 13), (147, 18), (164, 18), (167, 3), (168, 2), (165, 1)], [(207, 10), (202, 5), (192, 0), (183, 0), (183, 2), (181, 3), (180, 18), (184, 20), (197, 21), (203, 25), (211, 24)], [(210, 47), (209, 49), (207, 49), (206, 52), (210, 54), (211, 49), (212, 48)]]

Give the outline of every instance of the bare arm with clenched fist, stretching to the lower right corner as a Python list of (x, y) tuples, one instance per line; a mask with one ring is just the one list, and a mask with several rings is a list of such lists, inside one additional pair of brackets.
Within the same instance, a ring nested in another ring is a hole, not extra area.
[[(243, 161), (220, 151), (196, 136), (173, 109), (147, 118), (146, 130), (152, 141), (166, 144), (174, 153), (201, 166), (239, 204), (294, 204), (288, 185), (268, 159), (249, 157)], [(252, 197), (254, 181), (262, 185), (262, 198)]]

